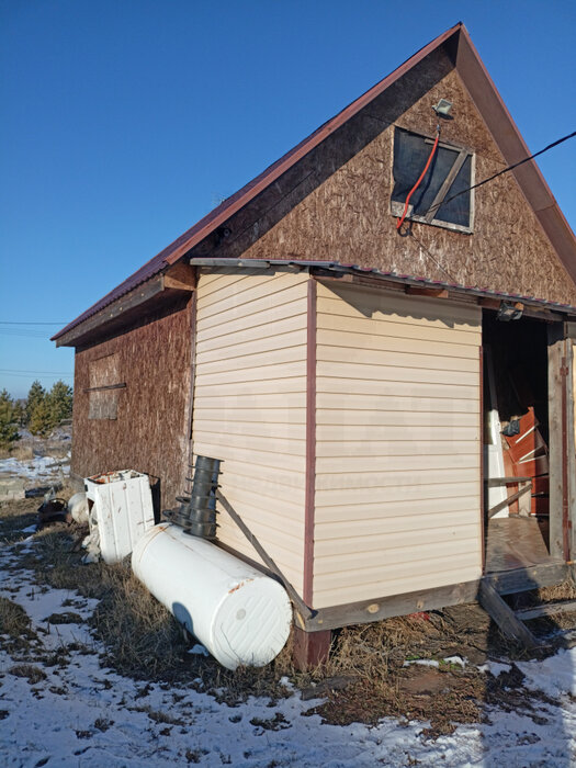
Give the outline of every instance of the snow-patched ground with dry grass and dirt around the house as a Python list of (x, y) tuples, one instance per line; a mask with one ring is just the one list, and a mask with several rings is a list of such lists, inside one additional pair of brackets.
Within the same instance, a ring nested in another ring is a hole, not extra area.
[[(29, 478), (30, 479), (30, 478)], [(59, 495), (67, 493), (66, 487)], [(82, 531), (0, 505), (0, 754), (7, 766), (569, 766), (576, 617), (529, 658), (477, 606), (349, 628), (325, 669), (286, 648), (222, 669)], [(537, 597), (574, 597), (572, 586)], [(316, 698), (314, 698), (316, 697)]]

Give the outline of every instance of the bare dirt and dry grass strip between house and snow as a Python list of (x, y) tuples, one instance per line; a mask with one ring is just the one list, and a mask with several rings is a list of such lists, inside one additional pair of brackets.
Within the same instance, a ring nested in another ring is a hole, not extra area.
[[(524, 689), (523, 675), (515, 664), (529, 655), (502, 637), (477, 605), (345, 628), (335, 633), (329, 662), (306, 674), (293, 667), (290, 641), (264, 669), (229, 673), (211, 657), (187, 653), (190, 643), (180, 628), (134, 578), (127, 563), (81, 564), (80, 541), (86, 531), (75, 523), (57, 523), (34, 533), (33, 551), (20, 544), (36, 521), (38, 504), (29, 498), (0, 505), (0, 543), (12, 547), (14, 578), (20, 569), (33, 571), (41, 590), (65, 588), (95, 598), (97, 607), (87, 621), (105, 646), (106, 665), (140, 680), (144, 689), (147, 681), (165, 680), (191, 684), (228, 703), (251, 694), (273, 701), (287, 694), (287, 678), (303, 699), (325, 698), (309, 714), (320, 714), (328, 723), (375, 724), (384, 716), (427, 721), (431, 737), (451, 733), (461, 723), (487, 722), (493, 704), (540, 716), (539, 704), (545, 697)], [(521, 602), (575, 597), (574, 586), (565, 584), (524, 594)], [(69, 612), (78, 621), (74, 600)], [(52, 624), (68, 620), (64, 614), (49, 618)], [(539, 654), (573, 644), (571, 633), (563, 631), (575, 626), (574, 613), (532, 621), (531, 630), (546, 642)], [(25, 617), (5, 598), (0, 601), (0, 634), (19, 664), (37, 660)], [(487, 663), (504, 663), (507, 671), (494, 675), (483, 666)], [(270, 721), (262, 727), (276, 730), (282, 723)]]

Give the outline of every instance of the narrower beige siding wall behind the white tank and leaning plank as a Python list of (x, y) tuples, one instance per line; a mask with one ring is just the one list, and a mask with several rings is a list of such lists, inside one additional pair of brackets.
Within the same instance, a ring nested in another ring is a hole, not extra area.
[[(302, 592), (307, 275), (218, 270), (197, 285), (194, 454)], [(218, 539), (258, 560), (224, 510)]]

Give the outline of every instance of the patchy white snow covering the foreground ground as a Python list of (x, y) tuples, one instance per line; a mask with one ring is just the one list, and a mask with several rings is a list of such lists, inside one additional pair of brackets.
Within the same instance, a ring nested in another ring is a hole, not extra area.
[[(25, 546), (33, 550), (34, 538)], [(486, 722), (461, 725), (454, 734), (437, 741), (425, 737), (426, 723), (419, 722), (385, 719), (375, 727), (328, 725), (317, 714), (305, 714), (318, 701), (302, 701), (297, 692), (278, 702), (251, 698), (230, 708), (190, 687), (145, 686), (117, 675), (102, 666), (102, 647), (83, 622), (97, 601), (69, 590), (38, 587), (33, 574), (24, 569), (16, 576), (12, 558), (11, 547), (0, 550), (0, 595), (25, 609), (45, 650), (71, 650), (64, 667), (35, 662), (33, 666), (46, 679), (30, 682), (10, 671), (18, 662), (0, 636), (2, 766), (32, 768), (45, 760), (42, 765), (61, 768), (162, 768), (195, 763), (245, 768), (564, 768), (575, 763), (576, 704), (568, 693), (576, 691), (576, 650), (561, 651), (540, 662), (517, 663), (527, 687), (550, 697), (534, 698), (535, 719), (523, 711), (486, 705)], [(64, 611), (78, 613), (82, 621), (47, 622), (53, 613)], [(203, 647), (196, 645), (191, 652), (202, 653)], [(458, 658), (448, 660), (462, 663)], [(417, 664), (427, 660), (416, 659)], [(510, 665), (489, 662), (485, 671), (498, 675), (508, 669)], [(289, 680), (285, 682), (292, 690)], [(274, 719), (278, 730), (261, 724)], [(162, 720), (170, 722), (158, 722)]]

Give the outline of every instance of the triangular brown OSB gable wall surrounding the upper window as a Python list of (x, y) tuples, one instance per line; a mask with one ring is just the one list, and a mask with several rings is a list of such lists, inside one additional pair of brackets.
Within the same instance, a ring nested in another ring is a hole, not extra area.
[[(245, 256), (336, 260), (576, 304), (576, 286), (511, 173), (476, 190), (474, 234), (425, 224), (414, 224), (411, 236), (397, 234), (389, 212), (393, 125), (433, 136), (431, 105), (440, 98), (454, 104), (442, 139), (474, 150), (476, 181), (504, 169), (460, 76), (439, 50), (304, 160), (310, 174), (252, 225), (259, 239)], [(338, 167), (350, 146), (363, 148)]]

